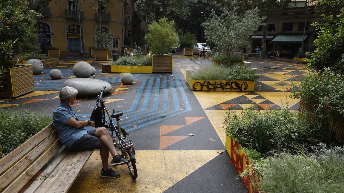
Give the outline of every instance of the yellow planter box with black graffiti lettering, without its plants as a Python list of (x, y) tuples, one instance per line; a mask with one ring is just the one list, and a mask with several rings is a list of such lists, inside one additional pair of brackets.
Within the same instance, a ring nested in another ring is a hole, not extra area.
[(186, 73), (186, 81), (193, 91), (254, 91), (255, 81), (193, 80)]

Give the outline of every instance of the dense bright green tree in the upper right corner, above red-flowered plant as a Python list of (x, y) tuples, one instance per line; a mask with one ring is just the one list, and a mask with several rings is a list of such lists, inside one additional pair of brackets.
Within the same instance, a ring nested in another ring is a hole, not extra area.
[[(319, 36), (314, 40), (316, 47), (311, 54), (309, 65), (318, 70), (330, 68), (335, 73), (344, 73), (344, 3), (341, 0), (316, 1), (317, 6), (337, 12), (322, 14), (322, 22), (312, 25), (318, 30)], [(332, 8), (332, 9), (331, 9)]]

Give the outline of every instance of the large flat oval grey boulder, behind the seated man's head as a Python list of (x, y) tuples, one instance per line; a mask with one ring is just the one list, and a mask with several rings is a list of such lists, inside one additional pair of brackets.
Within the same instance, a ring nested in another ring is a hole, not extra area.
[(111, 84), (99, 79), (92, 78), (71, 78), (66, 80), (62, 87), (70, 86), (78, 90), (79, 95), (96, 95), (103, 86), (106, 86), (104, 92), (108, 92), (111, 89)]

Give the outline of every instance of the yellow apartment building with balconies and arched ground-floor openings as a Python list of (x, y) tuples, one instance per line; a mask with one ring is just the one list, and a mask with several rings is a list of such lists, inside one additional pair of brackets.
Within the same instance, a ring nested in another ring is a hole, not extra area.
[[(137, 16), (135, 0), (111, 0), (105, 13), (98, 12), (97, 1), (61, 0), (43, 8), (39, 22), (39, 42), (42, 54), (46, 46), (61, 50), (80, 50), (85, 44), (85, 53), (96, 46), (95, 34), (99, 31), (98, 18), (101, 14), (100, 30), (111, 36), (110, 48), (121, 49), (123, 45), (144, 44), (146, 24)], [(78, 10), (80, 7), (80, 11)], [(80, 13), (80, 25), (79, 25)], [(134, 16), (133, 16), (134, 15)], [(80, 32), (81, 39), (80, 42)]]

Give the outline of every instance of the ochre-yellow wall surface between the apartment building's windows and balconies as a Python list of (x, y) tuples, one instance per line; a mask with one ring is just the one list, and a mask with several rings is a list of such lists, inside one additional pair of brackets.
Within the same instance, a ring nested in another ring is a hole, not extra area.
[[(66, 27), (69, 24), (79, 25), (79, 19), (71, 19), (65, 17), (65, 9), (68, 9), (67, 0), (58, 1), (57, 4), (50, 3), (50, 16), (44, 16), (41, 18), (41, 22), (48, 23), (51, 26), (52, 35), (52, 46), (58, 47), (61, 50), (67, 50), (67, 31)], [(84, 4), (80, 5), (80, 10), (84, 11), (84, 19), (80, 20), (81, 26), (83, 28), (83, 41), (85, 43), (85, 52), (89, 52), (89, 46), (95, 45), (95, 31), (98, 27), (98, 21), (95, 19), (95, 13), (97, 12), (94, 7), (92, 7), (89, 1), (83, 1)], [(121, 6), (123, 6), (123, 16), (121, 16)], [(130, 9), (130, 4), (125, 5), (122, 0), (111, 1), (107, 13), (111, 14), (111, 22), (102, 21), (101, 26), (105, 26), (109, 29), (111, 35), (119, 36), (119, 49), (122, 47), (122, 36), (121, 30), (123, 32), (125, 29), (131, 31), (131, 25), (124, 24), (124, 7), (127, 6)], [(128, 11), (127, 11), (128, 12)], [(112, 48), (112, 40), (111, 40)]]

